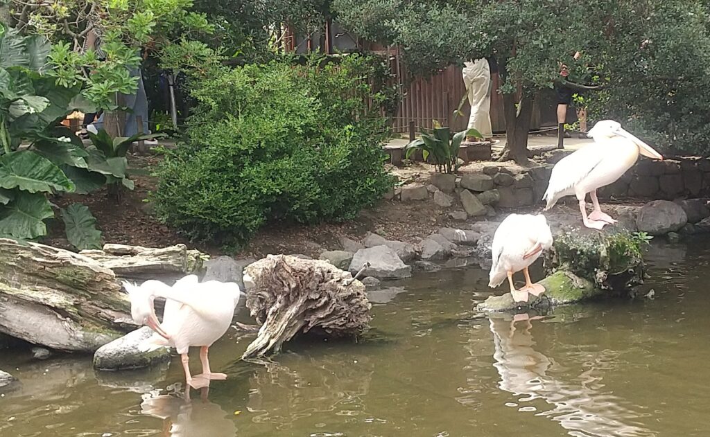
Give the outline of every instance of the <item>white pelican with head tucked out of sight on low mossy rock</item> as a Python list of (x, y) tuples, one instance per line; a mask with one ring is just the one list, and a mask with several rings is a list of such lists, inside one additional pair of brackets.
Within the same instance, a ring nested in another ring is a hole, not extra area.
[[(530, 281), (530, 266), (540, 257), (542, 250), (552, 247), (552, 231), (542, 214), (510, 214), (501, 222), (493, 235), (493, 265), (488, 275), (488, 287), (498, 287), (508, 277), (510, 294), (515, 302), (528, 302), (528, 293), (540, 296), (545, 287)], [(513, 273), (523, 270), (525, 287), (513, 285)]]

